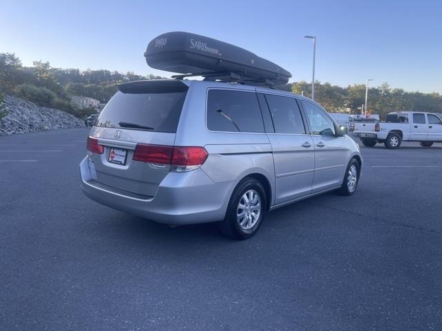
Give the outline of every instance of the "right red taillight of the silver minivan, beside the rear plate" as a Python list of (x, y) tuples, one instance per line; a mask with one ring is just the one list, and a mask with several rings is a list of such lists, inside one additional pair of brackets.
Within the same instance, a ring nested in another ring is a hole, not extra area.
[(204, 147), (162, 146), (137, 143), (134, 161), (171, 165), (171, 171), (184, 172), (199, 168), (207, 159)]

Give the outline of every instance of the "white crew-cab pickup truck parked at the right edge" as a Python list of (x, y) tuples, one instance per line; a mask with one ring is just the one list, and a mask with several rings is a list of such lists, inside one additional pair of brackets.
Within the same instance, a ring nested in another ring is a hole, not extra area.
[(390, 112), (385, 122), (354, 123), (354, 136), (364, 146), (384, 143), (395, 149), (402, 141), (418, 141), (423, 147), (442, 142), (442, 117), (432, 112)]

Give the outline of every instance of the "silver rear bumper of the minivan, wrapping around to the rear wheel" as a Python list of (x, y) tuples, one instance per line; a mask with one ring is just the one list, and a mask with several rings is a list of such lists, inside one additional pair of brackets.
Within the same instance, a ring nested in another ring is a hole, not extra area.
[(79, 168), (81, 190), (90, 199), (138, 217), (173, 225), (221, 221), (238, 183), (215, 183), (201, 169), (169, 172), (155, 197), (137, 197), (97, 185), (95, 166), (88, 157), (81, 161)]

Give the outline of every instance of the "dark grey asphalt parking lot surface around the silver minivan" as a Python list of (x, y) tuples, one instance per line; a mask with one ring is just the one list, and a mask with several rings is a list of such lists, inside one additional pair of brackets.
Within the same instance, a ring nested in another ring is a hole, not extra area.
[(0, 137), (0, 330), (442, 330), (442, 144), (231, 241), (84, 197), (87, 133)]

